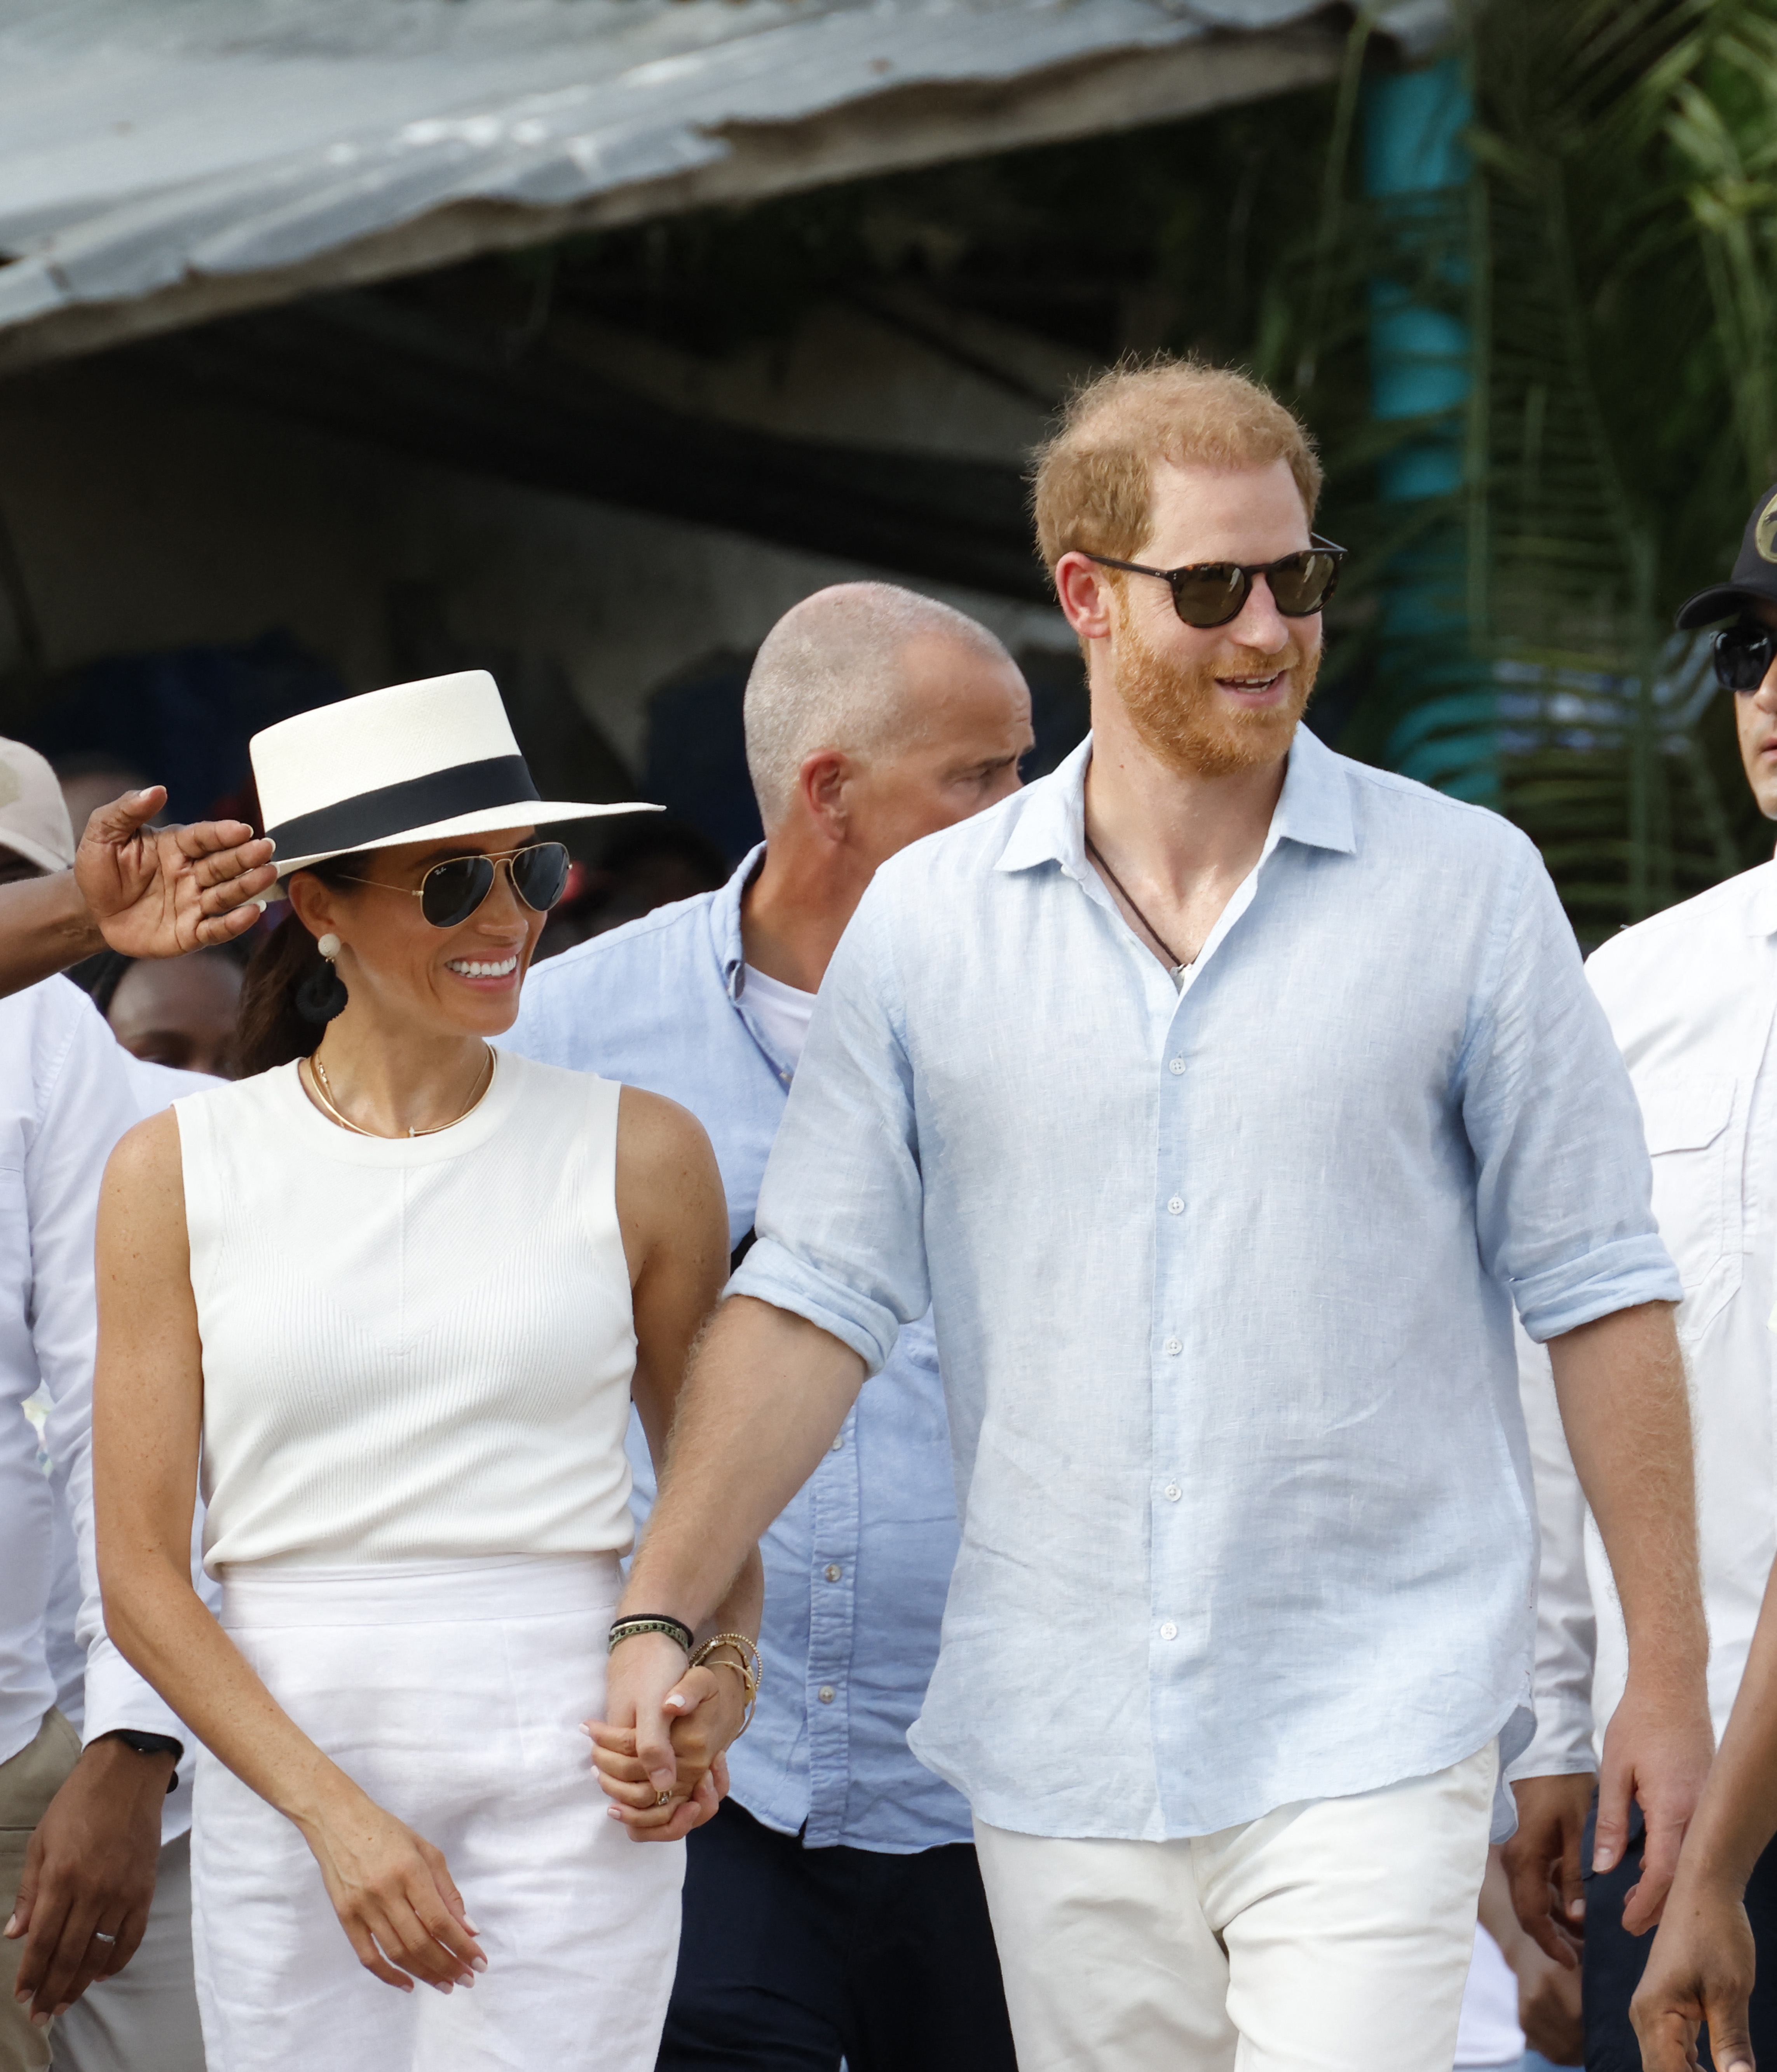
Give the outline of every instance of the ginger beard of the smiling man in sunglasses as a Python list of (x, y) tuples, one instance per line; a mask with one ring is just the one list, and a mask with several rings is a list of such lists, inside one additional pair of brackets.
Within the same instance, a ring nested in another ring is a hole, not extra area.
[[(1277, 762), (1296, 736), (1321, 667), (1319, 646), (1304, 653), (1294, 640), (1275, 655), (1234, 649), (1207, 663), (1180, 663), (1151, 649), (1128, 622), (1118, 644), (1116, 690), (1130, 725), (1149, 754), (1182, 777), (1232, 777)], [(1217, 675), (1252, 680), (1279, 669), (1290, 678), (1281, 704), (1242, 709), (1215, 688)]]

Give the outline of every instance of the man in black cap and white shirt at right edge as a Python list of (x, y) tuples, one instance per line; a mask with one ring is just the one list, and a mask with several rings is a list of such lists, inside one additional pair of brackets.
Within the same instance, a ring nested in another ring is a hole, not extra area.
[[(1777, 485), (1746, 520), (1733, 574), (1692, 597), (1682, 632), (1713, 636), (1733, 692), (1758, 810), (1777, 821)], [(1684, 1278), (1680, 1343), (1696, 1417), (1709, 1705), (1717, 1738), (1740, 1687), (1777, 1552), (1777, 862), (1667, 908), (1605, 943), (1586, 974), (1642, 1104), (1653, 1204)], [(1520, 1347), (1543, 1525), (1536, 1738), (1512, 1767), (1520, 1828), (1507, 1844), (1524, 1927), (1584, 1975), (1588, 2072), (1640, 2072), (1630, 1997), (1648, 1937), (1624, 1902), (1653, 1863), (1640, 1811), (1595, 1807), (1597, 1745), (1624, 1689), (1621, 1614), (1561, 1442), (1549, 1359)], [(1663, 1844), (1675, 1852), (1677, 1838)], [(1746, 1908), (1760, 1948), (1752, 2045), (1777, 2064), (1777, 1848)], [(1709, 2060), (1702, 2060), (1709, 2064)]]

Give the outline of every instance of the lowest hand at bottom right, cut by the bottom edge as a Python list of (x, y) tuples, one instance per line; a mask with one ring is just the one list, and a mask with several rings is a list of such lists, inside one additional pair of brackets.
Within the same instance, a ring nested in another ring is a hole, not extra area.
[(1644, 2072), (1692, 2072), (1700, 2022), (1709, 2022), (1717, 2072), (1752, 2072), (1752, 1929), (1740, 1894), (1690, 1883), (1680, 1869), (1630, 2002)]

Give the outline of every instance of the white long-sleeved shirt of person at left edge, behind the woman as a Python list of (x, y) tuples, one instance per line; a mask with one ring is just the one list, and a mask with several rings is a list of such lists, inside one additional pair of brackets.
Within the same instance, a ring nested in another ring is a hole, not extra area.
[[(50, 1401), (46, 1446), (89, 1550), (93, 1218), (106, 1158), (139, 1115), (124, 1053), (77, 986), (0, 999), (0, 1761), (56, 1701), (56, 1490), (23, 1403), (37, 1388)], [(118, 1726), (191, 1740), (108, 1641), (87, 1656), (83, 1699), (89, 1740)]]

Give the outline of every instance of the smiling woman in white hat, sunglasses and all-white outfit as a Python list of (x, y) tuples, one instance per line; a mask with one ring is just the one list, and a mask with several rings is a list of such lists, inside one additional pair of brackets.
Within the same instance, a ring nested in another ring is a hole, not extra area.
[(757, 1562), (680, 1629), (688, 1796), (608, 1817), (579, 1730), (630, 1394), (659, 1450), (726, 1210), (682, 1109), (487, 1042), (566, 879), (535, 825), (637, 808), (539, 800), (479, 671), (288, 719), (253, 769), (292, 905), (243, 1013), (272, 1069), (133, 1131), (100, 1218), (106, 1616), (207, 1749), (209, 2072), (643, 2072)]

